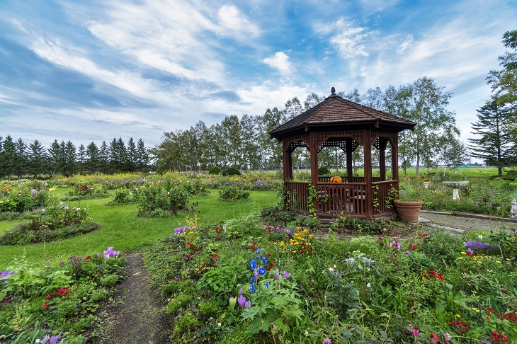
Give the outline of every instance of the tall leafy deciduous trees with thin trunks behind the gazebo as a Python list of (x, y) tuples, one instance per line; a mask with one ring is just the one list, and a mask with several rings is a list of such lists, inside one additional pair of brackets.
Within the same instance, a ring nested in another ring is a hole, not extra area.
[[(459, 166), (468, 161), (455, 114), (447, 110), (451, 94), (426, 76), (411, 84), (389, 86), (385, 90), (370, 88), (361, 95), (358, 89), (338, 93), (342, 98), (416, 122), (414, 132), (403, 132), (399, 154), (403, 168), (411, 164), (433, 167), (438, 164)], [(210, 166), (237, 166), (249, 170), (280, 169), (281, 144), (268, 132), (324, 101), (325, 96), (312, 93), (305, 101), (289, 99), (283, 110), (268, 108), (263, 115), (227, 115), (220, 123), (208, 127), (200, 121), (189, 130), (165, 132), (163, 142), (152, 149), (157, 171), (203, 171)], [(319, 153), (319, 166), (343, 168), (346, 154), (326, 147)], [(361, 164), (361, 151), (354, 154), (354, 164)], [(292, 154), (295, 168), (309, 167), (307, 149)], [(374, 162), (375, 164), (375, 162)]]

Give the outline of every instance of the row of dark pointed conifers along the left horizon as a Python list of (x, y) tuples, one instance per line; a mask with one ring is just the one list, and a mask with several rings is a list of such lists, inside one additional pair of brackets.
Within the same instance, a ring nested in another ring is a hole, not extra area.
[(0, 178), (23, 176), (72, 176), (76, 173), (115, 173), (150, 171), (154, 161), (144, 141), (127, 143), (122, 138), (109, 144), (103, 141), (100, 147), (91, 142), (86, 147), (76, 147), (71, 141), (50, 144), (48, 149), (37, 139), (26, 144), (23, 139), (13, 140), (11, 135), (0, 137)]

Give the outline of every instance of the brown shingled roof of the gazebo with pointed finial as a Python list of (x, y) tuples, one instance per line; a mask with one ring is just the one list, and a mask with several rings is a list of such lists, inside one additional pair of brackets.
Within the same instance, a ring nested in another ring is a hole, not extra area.
[(368, 106), (353, 103), (353, 101), (347, 101), (336, 95), (333, 87), (332, 94), (322, 103), (276, 127), (269, 134), (272, 138), (280, 139), (285, 137), (285, 134), (300, 130), (308, 131), (311, 127), (343, 128), (348, 126), (358, 127), (358, 125), (362, 127), (371, 125), (401, 132), (405, 129), (413, 130), (416, 123), (390, 113), (368, 108)]

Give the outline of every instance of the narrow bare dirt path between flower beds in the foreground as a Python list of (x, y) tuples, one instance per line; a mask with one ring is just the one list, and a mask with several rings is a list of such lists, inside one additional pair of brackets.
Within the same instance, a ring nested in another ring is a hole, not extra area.
[(105, 343), (169, 343), (171, 323), (164, 314), (157, 294), (149, 289), (142, 254), (127, 258), (127, 279), (118, 287), (121, 303), (110, 311), (113, 329)]

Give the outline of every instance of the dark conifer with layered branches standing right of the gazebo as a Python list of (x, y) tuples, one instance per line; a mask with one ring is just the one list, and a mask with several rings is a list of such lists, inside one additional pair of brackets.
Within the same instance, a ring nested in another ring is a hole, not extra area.
[(499, 103), (493, 96), (477, 110), (477, 121), (472, 123), (472, 134), (478, 137), (468, 139), (470, 155), (489, 166), (497, 166), (499, 176), (503, 167), (511, 164), (515, 151), (509, 137), (509, 112), (506, 104)]

